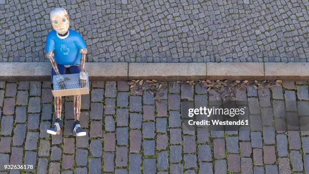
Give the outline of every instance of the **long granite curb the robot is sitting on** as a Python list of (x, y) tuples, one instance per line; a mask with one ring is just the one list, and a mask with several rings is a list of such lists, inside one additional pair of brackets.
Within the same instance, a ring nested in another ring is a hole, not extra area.
[[(49, 80), (49, 62), (1, 62), (0, 80)], [(107, 63), (87, 62), (90, 80), (309, 80), (309, 63)]]

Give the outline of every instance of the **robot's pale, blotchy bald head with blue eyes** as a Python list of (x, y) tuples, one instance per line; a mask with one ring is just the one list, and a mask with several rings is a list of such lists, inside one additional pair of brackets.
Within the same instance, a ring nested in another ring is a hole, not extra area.
[(50, 22), (59, 34), (65, 34), (70, 26), (68, 12), (64, 8), (56, 8), (49, 13)]

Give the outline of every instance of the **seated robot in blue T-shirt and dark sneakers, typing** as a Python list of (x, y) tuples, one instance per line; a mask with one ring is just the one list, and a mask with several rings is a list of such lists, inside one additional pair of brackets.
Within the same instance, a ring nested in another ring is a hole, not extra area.
[[(85, 74), (85, 59), (87, 54), (86, 43), (81, 35), (69, 29), (70, 19), (68, 12), (63, 8), (55, 8), (50, 14), (50, 22), (53, 26), (53, 31), (47, 34), (45, 51), (47, 58), (52, 63), (52, 83), (53, 76), (56, 75), (56, 81), (61, 89), (65, 89), (65, 79), (62, 74), (66, 71), (79, 73), (80, 86), (83, 88), (86, 85)], [(46, 132), (52, 135), (59, 135), (62, 127), (62, 97), (54, 97), (56, 120), (52, 127)], [(73, 135), (86, 136), (86, 131), (81, 129), (80, 117), (81, 95), (74, 96), (74, 124)]]

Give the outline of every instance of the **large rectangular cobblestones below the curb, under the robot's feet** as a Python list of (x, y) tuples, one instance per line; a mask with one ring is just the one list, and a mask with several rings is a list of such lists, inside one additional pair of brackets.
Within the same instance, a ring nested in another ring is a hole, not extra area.
[[(92, 82), (90, 95), (82, 97), (81, 126), (88, 136), (76, 138), (71, 97), (64, 101), (63, 134), (50, 136), (49, 82), (0, 82), (0, 173), (9, 172), (5, 164), (35, 166), (26, 173), (309, 173), (309, 134), (275, 132), (265, 123), (272, 109), (277, 117), (275, 106), (308, 101), (306, 82), (238, 91), (238, 101), (256, 104), (249, 104), (249, 117), (260, 123), (251, 132), (184, 128), (180, 106), (211, 95), (199, 84), (169, 83), (158, 103), (149, 92), (132, 94), (126, 82)], [(285, 108), (296, 116), (309, 113), (309, 105)]]

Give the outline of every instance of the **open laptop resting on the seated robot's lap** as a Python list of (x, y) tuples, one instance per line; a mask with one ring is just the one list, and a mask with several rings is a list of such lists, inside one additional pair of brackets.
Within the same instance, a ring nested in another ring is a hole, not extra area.
[(63, 74), (65, 79), (66, 89), (61, 89), (56, 81), (56, 75), (53, 78), (54, 90), (52, 91), (54, 97), (64, 97), (64, 96), (76, 96), (89, 94), (89, 77), (86, 73), (86, 87), (81, 88), (79, 84), (79, 73), (76, 74)]

